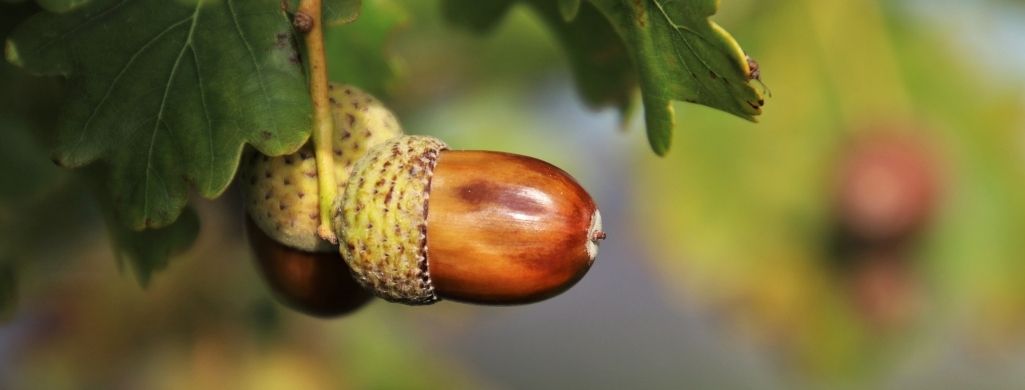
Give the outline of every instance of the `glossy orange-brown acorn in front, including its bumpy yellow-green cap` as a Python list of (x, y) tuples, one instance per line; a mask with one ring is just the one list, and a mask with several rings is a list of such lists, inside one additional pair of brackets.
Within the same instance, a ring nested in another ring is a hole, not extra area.
[(419, 135), (368, 151), (333, 218), (357, 281), (410, 305), (550, 298), (587, 272), (605, 238), (594, 201), (562, 169)]

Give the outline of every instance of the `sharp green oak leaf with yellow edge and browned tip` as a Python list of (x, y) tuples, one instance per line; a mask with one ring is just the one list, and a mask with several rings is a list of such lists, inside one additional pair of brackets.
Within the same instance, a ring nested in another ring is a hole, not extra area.
[(717, 0), (591, 0), (612, 21), (641, 78), (648, 142), (664, 155), (672, 135), (672, 101), (723, 110), (753, 121), (763, 98), (748, 83), (743, 50), (708, 20)]

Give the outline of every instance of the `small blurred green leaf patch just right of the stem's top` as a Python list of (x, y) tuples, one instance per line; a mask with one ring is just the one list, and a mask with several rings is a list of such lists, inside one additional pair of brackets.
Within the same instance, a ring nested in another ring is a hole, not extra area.
[(377, 96), (387, 94), (399, 62), (386, 52), (394, 33), (409, 13), (392, 0), (366, 0), (360, 18), (324, 33), (332, 80), (353, 83)]

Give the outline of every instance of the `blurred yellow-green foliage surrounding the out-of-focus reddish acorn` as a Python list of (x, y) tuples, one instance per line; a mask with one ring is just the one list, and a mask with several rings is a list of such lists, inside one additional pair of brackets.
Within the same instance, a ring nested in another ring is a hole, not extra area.
[[(674, 153), (639, 160), (637, 224), (650, 226), (639, 237), (665, 283), (832, 384), (872, 387), (922, 345), (949, 342), (929, 337), (939, 328), (972, 329), (972, 349), (1017, 339), (1021, 86), (987, 77), (907, 8), (754, 2), (747, 12), (736, 31), (752, 37), (771, 114), (746, 125), (679, 107), (689, 125)], [(891, 130), (937, 151), (942, 189), (902, 260), (911, 269), (909, 318), (880, 328), (858, 307), (855, 271), (838, 268), (827, 247), (840, 157), (857, 136)]]

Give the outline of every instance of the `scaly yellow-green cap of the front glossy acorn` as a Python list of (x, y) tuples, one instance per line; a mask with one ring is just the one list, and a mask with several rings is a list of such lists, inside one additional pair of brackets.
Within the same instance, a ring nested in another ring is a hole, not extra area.
[(353, 168), (354, 180), (336, 201), (342, 258), (357, 281), (387, 301), (438, 300), (427, 267), (427, 199), (445, 149), (441, 140), (420, 135), (378, 145)]

